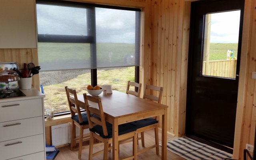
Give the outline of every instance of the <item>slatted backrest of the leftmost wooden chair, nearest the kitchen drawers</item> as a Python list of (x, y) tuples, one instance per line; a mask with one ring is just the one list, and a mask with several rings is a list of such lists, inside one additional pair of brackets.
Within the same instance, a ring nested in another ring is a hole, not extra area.
[[(82, 115), (80, 110), (80, 105), (77, 99), (76, 90), (72, 90), (68, 88), (68, 86), (65, 87), (67, 98), (68, 98), (68, 106), (70, 109), (71, 116), (74, 116), (76, 113), (78, 114), (79, 122), (82, 123)], [(85, 106), (85, 104), (84, 104)]]

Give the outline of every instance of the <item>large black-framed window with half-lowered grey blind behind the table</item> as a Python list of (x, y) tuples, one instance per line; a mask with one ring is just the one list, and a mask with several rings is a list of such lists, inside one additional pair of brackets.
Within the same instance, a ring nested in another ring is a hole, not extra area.
[(64, 86), (82, 94), (89, 84), (112, 84), (124, 92), (128, 80), (138, 82), (139, 9), (37, 0), (36, 11), (45, 108), (69, 111)]

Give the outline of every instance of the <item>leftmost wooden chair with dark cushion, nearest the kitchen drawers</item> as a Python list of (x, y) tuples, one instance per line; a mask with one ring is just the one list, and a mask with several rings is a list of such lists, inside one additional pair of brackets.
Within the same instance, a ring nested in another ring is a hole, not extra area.
[[(87, 114), (86, 112), (81, 114), (80, 111), (80, 105), (84, 105), (83, 108), (85, 108), (85, 104), (78, 103), (76, 90), (72, 90), (68, 88), (68, 86), (65, 87), (65, 90), (72, 118), (70, 150), (73, 150), (73, 147), (76, 146), (77, 142), (79, 142), (78, 159), (81, 159), (82, 142), (85, 140), (89, 140), (90, 138), (90, 134), (84, 135), (84, 129), (89, 128)], [(80, 129), (78, 138), (76, 138), (76, 126), (78, 126), (78, 128)]]

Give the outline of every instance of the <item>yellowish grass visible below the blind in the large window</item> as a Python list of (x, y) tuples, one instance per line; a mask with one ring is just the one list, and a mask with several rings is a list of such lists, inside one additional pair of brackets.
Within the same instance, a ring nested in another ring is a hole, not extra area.
[[(126, 92), (127, 81), (134, 81), (134, 67), (98, 71), (98, 85), (112, 84), (113, 90)], [(91, 84), (90, 73), (82, 74), (66, 82), (44, 86), (44, 108), (54, 108), (54, 113), (69, 111), (65, 86), (76, 89), (78, 94), (88, 93), (86, 87)]]

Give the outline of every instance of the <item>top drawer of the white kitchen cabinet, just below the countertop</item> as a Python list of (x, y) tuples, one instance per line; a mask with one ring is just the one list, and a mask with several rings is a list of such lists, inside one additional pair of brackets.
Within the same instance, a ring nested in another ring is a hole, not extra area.
[(0, 122), (42, 115), (42, 98), (0, 103)]

